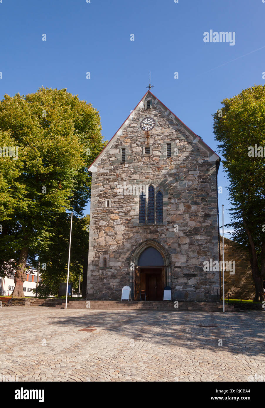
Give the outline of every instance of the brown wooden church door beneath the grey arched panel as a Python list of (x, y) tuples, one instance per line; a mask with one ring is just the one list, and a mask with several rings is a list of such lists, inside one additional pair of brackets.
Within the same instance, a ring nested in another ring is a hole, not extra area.
[(164, 267), (137, 268), (135, 273), (135, 300), (140, 299), (141, 290), (146, 292), (146, 300), (163, 300), (165, 283)]

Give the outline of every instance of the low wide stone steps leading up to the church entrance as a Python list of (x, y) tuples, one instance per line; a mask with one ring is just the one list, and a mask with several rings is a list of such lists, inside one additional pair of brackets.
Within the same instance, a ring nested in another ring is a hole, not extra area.
[[(174, 302), (151, 302), (151, 301), (115, 301), (115, 300), (70, 300), (67, 309), (97, 309), (97, 310), (172, 310), (172, 311), (201, 311), (223, 312), (221, 302), (179, 302), (178, 308)], [(43, 304), (43, 306), (49, 306)], [(54, 305), (55, 308), (65, 308), (65, 302)], [(225, 305), (226, 312), (238, 312), (240, 309), (234, 305)]]

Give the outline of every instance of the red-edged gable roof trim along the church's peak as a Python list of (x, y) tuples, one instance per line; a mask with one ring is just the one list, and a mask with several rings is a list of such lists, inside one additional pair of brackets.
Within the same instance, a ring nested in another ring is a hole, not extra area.
[(191, 136), (195, 136), (195, 139), (193, 140), (194, 143), (199, 143), (205, 150), (208, 151), (209, 155), (210, 155), (210, 162), (216, 162), (218, 161), (220, 163), (221, 158), (219, 157), (219, 155), (217, 155), (209, 146), (208, 144), (206, 144), (205, 142), (203, 142), (203, 140), (201, 139), (201, 137), (199, 135), (197, 135), (196, 133), (194, 133), (188, 126), (186, 126), (185, 123), (183, 123), (173, 112), (171, 112), (166, 105), (163, 104), (163, 102), (161, 102), (151, 91), (147, 91), (143, 98), (140, 100), (140, 102), (135, 106), (135, 109), (133, 109), (133, 111), (131, 111), (130, 115), (126, 118), (126, 120), (123, 122), (123, 124), (120, 126), (120, 128), (118, 129), (118, 131), (113, 135), (113, 137), (110, 139), (110, 141), (108, 142), (108, 144), (106, 144), (106, 146), (104, 147), (104, 149), (99, 153), (99, 155), (96, 157), (96, 159), (93, 161), (93, 163), (91, 164), (91, 166), (88, 168), (89, 172), (94, 172), (97, 171), (97, 163), (99, 162), (99, 160), (102, 158), (102, 156), (104, 155), (106, 149), (110, 148), (111, 144), (115, 141), (116, 136), (120, 136), (122, 134), (122, 131), (124, 129), (125, 126), (127, 126), (127, 124), (133, 119), (134, 117), (134, 112), (137, 111), (137, 109), (139, 108), (143, 108), (144, 107), (144, 99), (146, 98), (146, 96), (148, 95), (148, 93), (150, 94), (150, 96), (152, 96), (153, 98), (155, 98), (154, 103), (159, 103), (162, 108), (166, 111), (166, 115), (168, 115), (171, 119), (175, 120), (177, 123), (181, 124), (184, 129), (186, 131), (188, 131), (188, 133), (190, 133)]

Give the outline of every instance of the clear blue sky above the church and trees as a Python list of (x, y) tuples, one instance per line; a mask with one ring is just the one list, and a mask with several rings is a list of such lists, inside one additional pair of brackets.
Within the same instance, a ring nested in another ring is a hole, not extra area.
[[(262, 0), (2, 0), (0, 98), (67, 88), (99, 110), (110, 140), (146, 93), (151, 70), (152, 92), (216, 151), (212, 113), (221, 100), (265, 82), (264, 16)], [(235, 32), (235, 44), (205, 43), (211, 29)], [(222, 166), (218, 180), (226, 223)]]

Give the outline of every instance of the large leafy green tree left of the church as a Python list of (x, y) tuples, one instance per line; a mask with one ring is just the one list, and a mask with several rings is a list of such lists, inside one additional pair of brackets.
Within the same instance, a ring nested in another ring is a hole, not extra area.
[(4, 95), (0, 130), (0, 146), (18, 147), (17, 160), (0, 157), (0, 262), (16, 262), (13, 296), (24, 297), (27, 259), (48, 251), (60, 214), (83, 216), (87, 168), (106, 143), (98, 111), (66, 89)]

